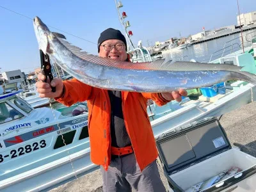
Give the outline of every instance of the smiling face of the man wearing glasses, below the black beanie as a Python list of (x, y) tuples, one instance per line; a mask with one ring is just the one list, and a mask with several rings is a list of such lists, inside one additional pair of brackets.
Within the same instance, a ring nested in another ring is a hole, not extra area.
[(123, 45), (123, 49), (118, 51), (116, 50), (116, 47), (113, 46), (113, 49), (111, 51), (106, 51), (102, 45), (116, 45), (116, 44), (124, 44), (121, 40), (116, 39), (109, 39), (100, 45), (100, 52), (99, 56), (101, 58), (109, 58), (112, 60), (118, 60), (118, 61), (125, 61), (127, 59), (127, 52), (125, 51), (125, 45)]

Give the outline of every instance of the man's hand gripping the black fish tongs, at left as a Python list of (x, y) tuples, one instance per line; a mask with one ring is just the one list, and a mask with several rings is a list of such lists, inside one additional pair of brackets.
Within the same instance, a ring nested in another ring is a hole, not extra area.
[[(36, 92), (39, 93), (39, 97), (60, 97), (63, 91), (63, 82), (62, 79), (56, 78), (51, 81), (51, 85), (49, 79), (47, 79), (47, 83), (44, 83), (45, 76), (43, 74), (38, 74), (38, 82), (36, 82)], [(51, 86), (56, 87), (56, 92), (52, 92)]]

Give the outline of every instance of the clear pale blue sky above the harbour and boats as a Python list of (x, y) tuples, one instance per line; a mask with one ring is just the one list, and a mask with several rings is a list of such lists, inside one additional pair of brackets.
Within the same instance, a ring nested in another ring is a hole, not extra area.
[[(133, 33), (134, 45), (139, 40), (148, 46), (175, 36), (193, 35), (202, 27), (211, 30), (237, 25), (236, 0), (122, 0), (122, 4), (120, 11), (127, 14), (125, 20), (131, 24), (128, 29)], [(255, 0), (239, 0), (239, 8), (240, 13), (255, 11)], [(54, 27), (49, 27), (51, 31), (63, 33), (68, 42), (92, 54), (97, 54), (97, 40), (105, 29), (119, 29), (124, 34), (114, 0), (1, 0), (0, 73), (17, 69), (28, 73), (40, 67), (31, 20), (35, 16)]]

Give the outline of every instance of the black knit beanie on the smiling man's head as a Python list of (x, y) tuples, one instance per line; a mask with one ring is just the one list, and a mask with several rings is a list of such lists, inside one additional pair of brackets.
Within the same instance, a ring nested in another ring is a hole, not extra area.
[(102, 42), (109, 40), (109, 39), (121, 40), (122, 42), (124, 42), (125, 50), (127, 51), (127, 43), (126, 43), (124, 35), (119, 30), (116, 30), (113, 28), (108, 28), (105, 31), (102, 31), (102, 33), (100, 33), (100, 37), (98, 40), (98, 52), (100, 52), (100, 45), (102, 44)]

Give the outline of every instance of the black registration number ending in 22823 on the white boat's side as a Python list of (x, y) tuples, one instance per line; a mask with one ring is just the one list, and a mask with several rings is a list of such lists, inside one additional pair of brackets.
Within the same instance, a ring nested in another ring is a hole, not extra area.
[(19, 147), (17, 149), (10, 150), (8, 154), (0, 154), (0, 163), (3, 163), (4, 159), (10, 157), (11, 159), (19, 156), (23, 156), (24, 154), (29, 154), (35, 150), (39, 150), (40, 148), (46, 147), (46, 141), (41, 140), (34, 142), (32, 144), (28, 144), (24, 147)]

